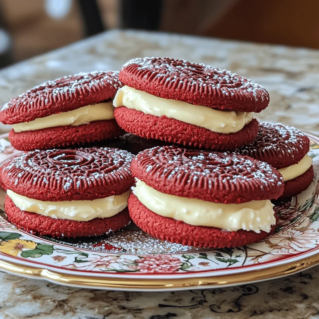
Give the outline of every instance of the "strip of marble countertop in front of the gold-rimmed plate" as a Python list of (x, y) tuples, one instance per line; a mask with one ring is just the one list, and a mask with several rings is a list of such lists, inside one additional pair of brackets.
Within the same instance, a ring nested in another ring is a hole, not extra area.
[(0, 318), (317, 319), (316, 270), (251, 285), (165, 293), (70, 288), (0, 272)]

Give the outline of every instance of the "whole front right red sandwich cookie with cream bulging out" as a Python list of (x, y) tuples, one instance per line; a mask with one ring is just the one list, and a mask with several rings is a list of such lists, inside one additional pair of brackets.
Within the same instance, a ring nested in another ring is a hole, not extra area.
[(270, 199), (281, 196), (280, 173), (234, 153), (154, 147), (131, 164), (132, 220), (156, 238), (183, 245), (241, 246), (270, 235)]

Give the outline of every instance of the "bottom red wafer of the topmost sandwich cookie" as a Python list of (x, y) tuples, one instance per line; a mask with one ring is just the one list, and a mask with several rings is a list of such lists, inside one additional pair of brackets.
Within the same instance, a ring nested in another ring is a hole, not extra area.
[(193, 124), (166, 116), (145, 114), (125, 106), (115, 108), (114, 116), (125, 131), (140, 137), (216, 151), (233, 150), (248, 145), (254, 141), (259, 130), (257, 120), (253, 119), (236, 133), (215, 133)]

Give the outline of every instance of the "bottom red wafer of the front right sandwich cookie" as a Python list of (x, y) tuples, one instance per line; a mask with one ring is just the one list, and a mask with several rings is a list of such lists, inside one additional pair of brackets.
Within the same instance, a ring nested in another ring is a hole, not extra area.
[(146, 233), (161, 240), (188, 246), (201, 248), (238, 247), (260, 241), (275, 230), (275, 225), (271, 226), (269, 233), (261, 231), (259, 234), (245, 230), (228, 232), (215, 227), (192, 226), (150, 211), (134, 194), (129, 197), (128, 207), (134, 223)]

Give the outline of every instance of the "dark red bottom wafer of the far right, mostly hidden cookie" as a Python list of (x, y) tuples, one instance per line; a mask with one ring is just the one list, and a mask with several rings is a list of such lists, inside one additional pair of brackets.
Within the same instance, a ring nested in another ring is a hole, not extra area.
[(284, 183), (284, 193), (278, 199), (283, 200), (300, 194), (302, 191), (308, 188), (313, 178), (314, 168), (311, 165), (311, 167), (309, 167), (305, 173)]

